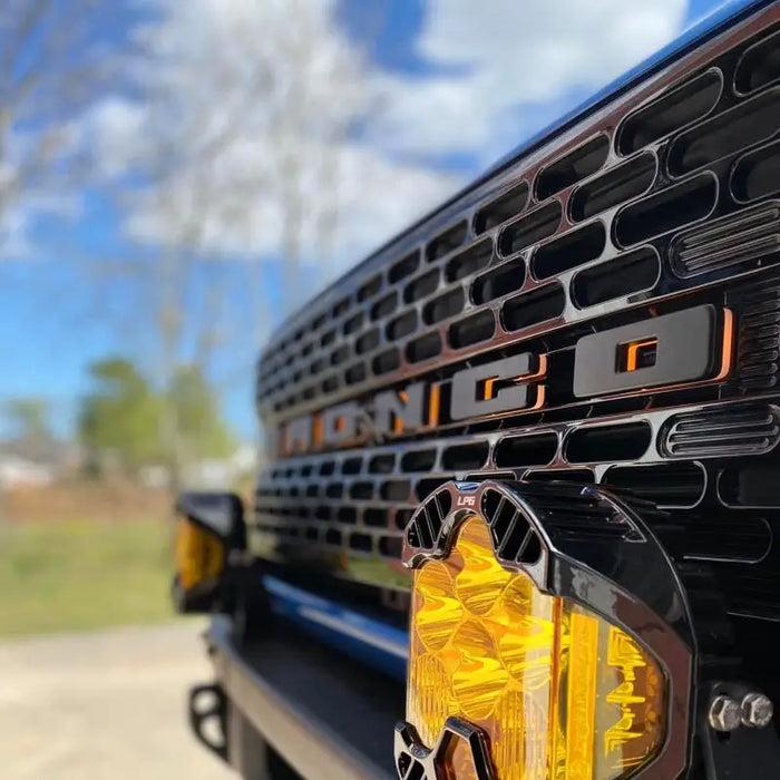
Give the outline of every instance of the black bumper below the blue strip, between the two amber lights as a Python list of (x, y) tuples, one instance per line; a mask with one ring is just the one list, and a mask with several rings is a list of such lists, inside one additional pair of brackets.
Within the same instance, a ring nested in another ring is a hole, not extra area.
[(403, 686), (274, 625), (240, 645), (232, 621), (206, 632), (216, 683), (262, 737), (306, 778), (391, 780), (394, 723)]

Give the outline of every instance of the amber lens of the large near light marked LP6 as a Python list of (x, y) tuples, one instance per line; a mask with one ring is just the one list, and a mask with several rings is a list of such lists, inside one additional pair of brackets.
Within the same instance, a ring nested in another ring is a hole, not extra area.
[[(415, 573), (407, 720), (432, 748), (448, 716), (480, 727), (501, 780), (616, 780), (657, 752), (661, 670), (621, 628), (504, 569), (479, 517)], [(458, 780), (476, 778), (467, 750)]]

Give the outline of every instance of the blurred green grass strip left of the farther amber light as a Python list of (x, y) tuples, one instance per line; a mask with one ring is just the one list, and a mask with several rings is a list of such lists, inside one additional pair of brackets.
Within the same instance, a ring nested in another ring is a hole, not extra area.
[(170, 546), (162, 519), (0, 527), (0, 636), (172, 618)]

